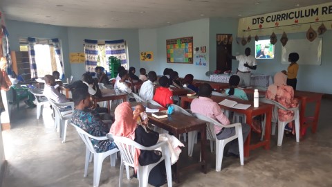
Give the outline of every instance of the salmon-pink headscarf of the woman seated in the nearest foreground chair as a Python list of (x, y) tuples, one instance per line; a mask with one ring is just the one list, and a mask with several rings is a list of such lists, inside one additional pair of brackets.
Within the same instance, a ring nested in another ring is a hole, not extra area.
[[(111, 130), (109, 133), (114, 136), (123, 136), (129, 139), (135, 139), (136, 121), (133, 120), (133, 112), (131, 111), (130, 104), (128, 102), (121, 103), (116, 107), (115, 118)], [(140, 150), (136, 149), (135, 156), (135, 172), (138, 168), (138, 157), (140, 157)]]

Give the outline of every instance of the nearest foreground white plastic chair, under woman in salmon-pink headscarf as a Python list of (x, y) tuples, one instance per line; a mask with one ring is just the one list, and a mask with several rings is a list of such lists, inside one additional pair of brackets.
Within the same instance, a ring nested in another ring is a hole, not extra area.
[(172, 186), (172, 171), (171, 171), (171, 157), (169, 156), (169, 149), (168, 149), (168, 143), (167, 141), (159, 141), (156, 143), (156, 145), (153, 145), (151, 147), (145, 147), (142, 146), (135, 141), (128, 139), (126, 137), (122, 136), (113, 136), (112, 134), (107, 134), (107, 138), (111, 141), (114, 141), (116, 145), (118, 146), (118, 149), (120, 150), (121, 154), (121, 166), (120, 166), (120, 179), (119, 179), (119, 186), (122, 186), (122, 174), (123, 174), (123, 168), (126, 166), (127, 168), (127, 178), (129, 179), (129, 170), (128, 167), (134, 167), (134, 161), (135, 161), (135, 149), (140, 150), (156, 150), (157, 148), (161, 148), (163, 152), (163, 156), (161, 159), (156, 162), (149, 164), (147, 166), (140, 166), (138, 164), (138, 170), (137, 170), (137, 177), (139, 180), (139, 186), (140, 187), (147, 187), (147, 181), (149, 179), (149, 173), (156, 166), (160, 161), (165, 160), (165, 168), (167, 173), (167, 185), (170, 187)]

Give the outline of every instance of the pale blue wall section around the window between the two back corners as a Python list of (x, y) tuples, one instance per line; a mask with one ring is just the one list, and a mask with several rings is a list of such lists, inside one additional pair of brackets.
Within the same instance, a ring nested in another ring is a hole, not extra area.
[[(117, 40), (124, 39), (128, 46), (129, 66), (140, 69), (138, 29), (114, 28), (68, 28), (69, 53), (84, 52), (84, 39)], [(85, 72), (85, 64), (71, 64), (73, 80), (80, 80)]]

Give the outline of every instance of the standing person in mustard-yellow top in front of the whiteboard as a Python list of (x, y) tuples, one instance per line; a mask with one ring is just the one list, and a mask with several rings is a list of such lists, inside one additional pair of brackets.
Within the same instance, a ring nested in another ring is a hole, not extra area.
[(291, 64), (289, 64), (287, 69), (287, 85), (293, 87), (294, 90), (296, 90), (296, 77), (297, 71), (299, 70), (299, 64), (296, 63), (297, 60), (299, 60), (298, 53), (290, 53), (288, 55), (288, 62), (291, 62)]

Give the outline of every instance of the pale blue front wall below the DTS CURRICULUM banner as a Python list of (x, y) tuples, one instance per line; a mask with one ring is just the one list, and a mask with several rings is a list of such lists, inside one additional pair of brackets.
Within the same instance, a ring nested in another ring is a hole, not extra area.
[[(288, 39), (305, 39), (306, 33), (287, 34)], [(278, 71), (287, 70), (288, 65), (282, 64), (282, 44), (279, 42), (281, 35), (277, 35), (278, 42), (275, 44), (275, 59), (273, 60), (257, 60), (257, 70), (253, 73), (261, 73), (275, 75)], [(259, 39), (270, 39), (269, 36), (259, 37)], [(332, 53), (331, 44), (332, 30), (326, 30), (322, 35), (322, 64), (317, 65), (299, 65), (297, 73), (297, 89), (303, 91), (315, 91), (324, 94), (332, 94), (330, 81), (332, 80)], [(250, 47), (251, 51), (255, 51), (255, 39), (246, 46), (240, 46), (238, 51), (244, 54), (244, 49)], [(296, 52), (296, 51), (294, 51)], [(252, 53), (255, 55), (255, 53)], [(301, 60), (301, 57), (300, 59)], [(234, 61), (232, 63), (234, 64)], [(236, 61), (235, 61), (236, 62)], [(238, 62), (237, 62), (238, 64)], [(232, 70), (236, 71), (237, 66), (232, 66)]]

